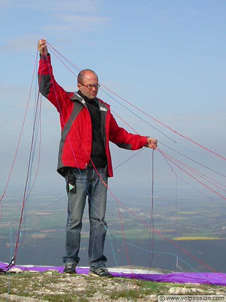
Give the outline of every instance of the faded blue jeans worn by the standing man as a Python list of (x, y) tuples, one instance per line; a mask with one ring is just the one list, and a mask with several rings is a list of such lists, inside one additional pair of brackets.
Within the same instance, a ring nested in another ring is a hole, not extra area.
[[(107, 174), (104, 169), (97, 168), (103, 181), (107, 184)], [(66, 225), (66, 256), (64, 264), (78, 264), (80, 258), (80, 233), (82, 228), (82, 216), (85, 207), (86, 196), (89, 205), (89, 266), (91, 269), (105, 267), (106, 257), (103, 255), (103, 246), (107, 224), (104, 221), (106, 211), (107, 188), (101, 182), (99, 176), (92, 167), (87, 169), (71, 168), (65, 177), (67, 187), (68, 178), (74, 177), (75, 190), (68, 192), (68, 216)]]

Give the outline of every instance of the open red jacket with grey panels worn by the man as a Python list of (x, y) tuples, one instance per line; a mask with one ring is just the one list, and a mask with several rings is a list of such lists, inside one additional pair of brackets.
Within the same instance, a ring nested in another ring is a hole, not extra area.
[[(54, 79), (51, 58), (39, 61), (39, 90), (60, 114), (61, 140), (57, 171), (64, 176), (65, 167), (85, 169), (90, 161), (92, 124), (86, 102), (76, 92), (66, 92)], [(121, 148), (137, 150), (147, 143), (147, 136), (131, 134), (118, 126), (110, 106), (97, 99), (101, 115), (101, 133), (107, 157), (108, 176), (113, 176), (109, 140)]]

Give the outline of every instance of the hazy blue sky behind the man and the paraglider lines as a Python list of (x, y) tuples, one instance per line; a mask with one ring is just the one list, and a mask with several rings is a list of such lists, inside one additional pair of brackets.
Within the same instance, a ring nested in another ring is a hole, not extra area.
[[(52, 0), (0, 1), (1, 27), (4, 29), (0, 42), (0, 189), (4, 188), (15, 153), (40, 38), (47, 38), (80, 68), (94, 69), (100, 83), (135, 106), (225, 157), (225, 8), (224, 1), (209, 0), (66, 0), (63, 5)], [(52, 64), (58, 83), (66, 90), (76, 90), (76, 78), (53, 54)], [(225, 171), (225, 161), (143, 115), (177, 141), (177, 144), (172, 143), (103, 92), (99, 92), (99, 97), (139, 133), (154, 136), (221, 173)], [(11, 193), (12, 188), (21, 190), (24, 186), (35, 92), (31, 102), (9, 188)], [(41, 194), (55, 187), (64, 194), (64, 180), (55, 172), (59, 139), (58, 114), (43, 99), (41, 163), (34, 192)], [(113, 145), (111, 152), (115, 166), (132, 155)], [(116, 171), (110, 186), (116, 191), (138, 187), (139, 191), (149, 192), (150, 158), (150, 150), (144, 150)], [(199, 166), (194, 168), (209, 173)], [(154, 169), (156, 194), (161, 196), (168, 191), (174, 194), (174, 176), (156, 152)], [(183, 173), (180, 175), (195, 184)], [(224, 181), (214, 174), (211, 177)], [(181, 194), (190, 190), (184, 183), (179, 183), (178, 187)], [(199, 185), (197, 187), (201, 189)], [(194, 191), (193, 194), (199, 193)]]

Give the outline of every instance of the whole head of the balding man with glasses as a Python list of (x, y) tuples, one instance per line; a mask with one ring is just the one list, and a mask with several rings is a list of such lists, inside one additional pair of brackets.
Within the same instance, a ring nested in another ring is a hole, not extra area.
[(98, 92), (98, 77), (91, 69), (83, 69), (78, 73), (78, 89), (88, 99), (95, 99)]

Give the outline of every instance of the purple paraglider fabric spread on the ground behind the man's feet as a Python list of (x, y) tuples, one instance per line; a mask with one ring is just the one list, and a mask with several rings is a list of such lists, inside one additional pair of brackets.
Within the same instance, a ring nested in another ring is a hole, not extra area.
[[(4, 270), (8, 266), (7, 263), (0, 262), (0, 269)], [(18, 268), (22, 271), (44, 273), (49, 270), (54, 270), (58, 273), (63, 273), (63, 266), (33, 266), (33, 265), (15, 265), (11, 269)], [(109, 269), (109, 272), (116, 278), (136, 278), (155, 282), (171, 282), (171, 283), (201, 283), (212, 285), (226, 285), (226, 273), (170, 273), (170, 274), (143, 274), (143, 273), (125, 273), (120, 271), (114, 272)], [(77, 274), (88, 275), (89, 269), (77, 267)]]

